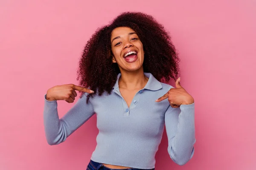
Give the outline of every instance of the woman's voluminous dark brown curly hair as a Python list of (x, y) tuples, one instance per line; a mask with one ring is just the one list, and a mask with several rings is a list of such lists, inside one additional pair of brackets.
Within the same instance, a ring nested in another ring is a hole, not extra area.
[[(111, 33), (117, 27), (129, 27), (137, 33), (145, 51), (144, 72), (151, 73), (161, 82), (163, 79), (169, 82), (170, 77), (177, 80), (180, 59), (163, 25), (151, 15), (124, 12), (109, 25), (98, 28), (87, 41), (77, 71), (80, 86), (97, 91), (99, 96), (104, 92), (111, 94), (120, 73), (117, 63), (112, 62), (111, 51)], [(88, 94), (86, 102), (95, 94)]]

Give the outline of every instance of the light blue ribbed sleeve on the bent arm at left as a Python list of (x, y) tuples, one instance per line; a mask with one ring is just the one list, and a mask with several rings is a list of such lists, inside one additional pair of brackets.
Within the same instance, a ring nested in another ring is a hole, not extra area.
[(57, 101), (48, 101), (44, 95), (44, 130), (48, 144), (64, 142), (76, 129), (93, 116), (93, 105), (86, 103), (86, 95), (78, 97), (73, 107), (59, 119)]

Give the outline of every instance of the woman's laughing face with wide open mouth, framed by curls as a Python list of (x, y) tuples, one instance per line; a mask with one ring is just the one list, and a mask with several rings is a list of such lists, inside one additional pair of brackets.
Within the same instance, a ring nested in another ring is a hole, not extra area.
[(143, 68), (143, 44), (131, 28), (118, 27), (113, 29), (111, 50), (114, 55), (113, 62), (117, 62), (121, 71), (136, 71)]

